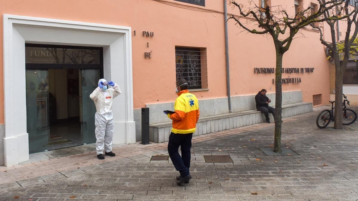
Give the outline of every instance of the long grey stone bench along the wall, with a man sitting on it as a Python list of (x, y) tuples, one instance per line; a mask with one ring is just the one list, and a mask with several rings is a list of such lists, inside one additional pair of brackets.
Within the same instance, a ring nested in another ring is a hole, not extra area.
[[(302, 102), (287, 104), (282, 106), (282, 118), (291, 117), (298, 114), (304, 114), (312, 111), (312, 103)], [(270, 114), (270, 118), (273, 119), (272, 114)], [(201, 117), (199, 118), (199, 121), (197, 123), (197, 130), (195, 131), (193, 136), (199, 136), (203, 134), (249, 126), (262, 122), (266, 122), (265, 116), (262, 112), (257, 110)], [(149, 140), (156, 143), (168, 142), (169, 134), (172, 128), (171, 126), (171, 122), (150, 124)]]

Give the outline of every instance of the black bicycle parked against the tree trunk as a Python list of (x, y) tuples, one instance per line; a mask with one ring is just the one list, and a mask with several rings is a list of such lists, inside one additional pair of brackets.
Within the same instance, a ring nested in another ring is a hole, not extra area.
[[(347, 109), (347, 105), (350, 106), (349, 100), (347, 99), (347, 96), (343, 94), (343, 125), (350, 125), (357, 120), (357, 113), (355, 113), (351, 109)], [(318, 117), (316, 119), (316, 125), (318, 128), (325, 128), (328, 126), (329, 122), (334, 122), (334, 107), (333, 103), (335, 101), (329, 101), (332, 104), (332, 109), (324, 109), (318, 114)]]

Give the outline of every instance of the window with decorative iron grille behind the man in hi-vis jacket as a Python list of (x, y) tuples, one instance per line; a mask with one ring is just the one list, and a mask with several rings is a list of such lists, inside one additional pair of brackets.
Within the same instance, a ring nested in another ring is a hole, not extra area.
[(175, 47), (176, 80), (187, 80), (189, 89), (208, 88), (206, 57), (206, 48)]

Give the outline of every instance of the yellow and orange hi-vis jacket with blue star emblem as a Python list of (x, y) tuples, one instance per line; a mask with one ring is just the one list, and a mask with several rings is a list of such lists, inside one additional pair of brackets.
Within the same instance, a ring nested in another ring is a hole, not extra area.
[(174, 114), (168, 114), (173, 120), (173, 133), (194, 133), (199, 119), (199, 103), (194, 94), (189, 90), (182, 90), (178, 93), (174, 103)]

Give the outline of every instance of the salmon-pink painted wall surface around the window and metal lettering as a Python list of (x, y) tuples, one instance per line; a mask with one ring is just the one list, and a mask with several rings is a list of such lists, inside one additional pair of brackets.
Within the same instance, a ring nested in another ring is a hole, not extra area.
[[(286, 5), (287, 1), (292, 1), (287, 11), (293, 12), (294, 0), (271, 0), (275, 5)], [(228, 6), (228, 13), (235, 12), (237, 9), (232, 10)], [(136, 36), (132, 35), (134, 109), (147, 103), (175, 100), (175, 46), (207, 48), (209, 90), (193, 93), (199, 99), (226, 97), (222, 0), (206, 0), (205, 7), (174, 0), (1, 0), (0, 14), (1, 29), (3, 14), (12, 14), (130, 26), (133, 31), (136, 30)], [(272, 39), (240, 33), (242, 30), (232, 20), (228, 29), (231, 94), (255, 94), (261, 88), (270, 87), (274, 91), (273, 74), (253, 74), (253, 68), (275, 67)], [(142, 31), (152, 31), (154, 37), (143, 37)], [(302, 83), (286, 84), (283, 91), (302, 89), (306, 102), (312, 102), (313, 94), (322, 93), (326, 102), (329, 99), (328, 63), (323, 45), (319, 42), (319, 33), (311, 29), (302, 32), (305, 38), (295, 39), (284, 55), (284, 67), (311, 67), (315, 71), (311, 74), (284, 74), (283, 77), (301, 77)], [(0, 31), (0, 37), (3, 38), (3, 31)], [(2, 47), (3, 40), (0, 43)], [(150, 51), (153, 58), (144, 58), (144, 52)], [(3, 70), (2, 48), (0, 69)], [(3, 80), (3, 74), (0, 80)], [(115, 78), (113, 81), (116, 81)], [(1, 85), (0, 123), (4, 123), (3, 94)]]

